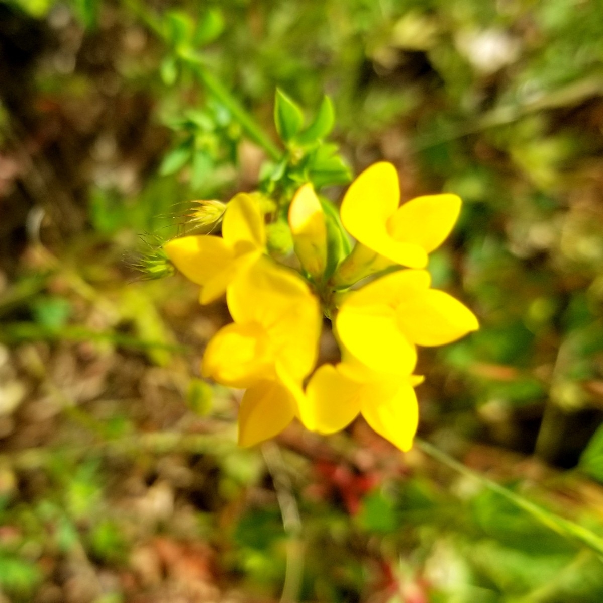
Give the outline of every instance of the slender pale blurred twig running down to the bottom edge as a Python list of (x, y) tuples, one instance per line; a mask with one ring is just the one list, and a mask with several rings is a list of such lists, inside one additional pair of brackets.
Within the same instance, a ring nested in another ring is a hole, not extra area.
[(293, 494), (291, 479), (285, 468), (280, 448), (274, 442), (262, 445), (262, 455), (274, 482), (274, 490), (279, 502), (283, 528), (288, 535), (285, 582), (280, 603), (295, 603), (299, 600), (301, 579), (303, 578), (304, 547), (301, 540), (301, 518)]

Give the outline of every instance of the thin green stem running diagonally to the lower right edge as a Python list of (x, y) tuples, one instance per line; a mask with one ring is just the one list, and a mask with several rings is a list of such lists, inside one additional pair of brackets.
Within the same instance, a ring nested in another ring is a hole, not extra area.
[(507, 490), (504, 486), (476, 473), (476, 471), (472, 471), (469, 467), (459, 463), (439, 448), (436, 448), (434, 445), (429, 444), (424, 440), (417, 438), (415, 439), (415, 443), (426, 455), (429, 455), (451, 469), (458, 471), (458, 473), (482, 483), (486, 488), (499, 494), (520, 509), (523, 509), (523, 511), (532, 515), (538, 522), (552, 529), (554, 532), (557, 532), (557, 534), (569, 538), (570, 540), (578, 541), (589, 547), (589, 549), (594, 550), (599, 559), (603, 561), (603, 538), (599, 537), (594, 532), (578, 525), (578, 523), (570, 522), (570, 520), (559, 517), (559, 515), (543, 509), (541, 506), (519, 496), (519, 494), (516, 494), (511, 490)]

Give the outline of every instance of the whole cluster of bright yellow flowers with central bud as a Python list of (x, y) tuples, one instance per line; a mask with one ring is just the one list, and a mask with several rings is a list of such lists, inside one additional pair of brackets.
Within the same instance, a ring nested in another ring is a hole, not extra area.
[[(431, 288), (425, 270), (460, 208), (453, 194), (400, 206), (397, 172), (379, 162), (350, 185), (339, 215), (311, 184), (295, 193), (288, 226), (297, 270), (268, 254), (267, 217), (248, 194), (227, 204), (221, 237), (165, 244), (175, 266), (201, 286), (201, 304), (226, 293), (233, 322), (210, 340), (201, 372), (245, 389), (241, 445), (271, 438), (295, 417), (332, 433), (362, 413), (384, 438), (411, 447), (414, 386), (423, 380), (413, 374), (417, 346), (443, 345), (478, 328), (461, 302)], [(347, 254), (342, 224), (356, 240)], [(316, 369), (323, 315), (332, 320), (341, 361)]]

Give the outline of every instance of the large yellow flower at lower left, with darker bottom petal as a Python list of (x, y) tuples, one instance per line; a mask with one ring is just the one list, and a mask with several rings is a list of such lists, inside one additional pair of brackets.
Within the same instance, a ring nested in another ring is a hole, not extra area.
[(248, 446), (297, 414), (301, 381), (317, 359), (320, 304), (300, 276), (268, 258), (232, 281), (226, 299), (235, 322), (208, 343), (201, 374), (248, 388), (239, 412), (239, 443)]

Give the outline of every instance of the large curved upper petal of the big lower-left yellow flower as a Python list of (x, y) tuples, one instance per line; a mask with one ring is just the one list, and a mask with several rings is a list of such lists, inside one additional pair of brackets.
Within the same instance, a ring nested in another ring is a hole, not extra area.
[(318, 299), (297, 273), (262, 258), (232, 282), (227, 302), (235, 322), (265, 328), (274, 356), (293, 377), (312, 370), (322, 315)]

